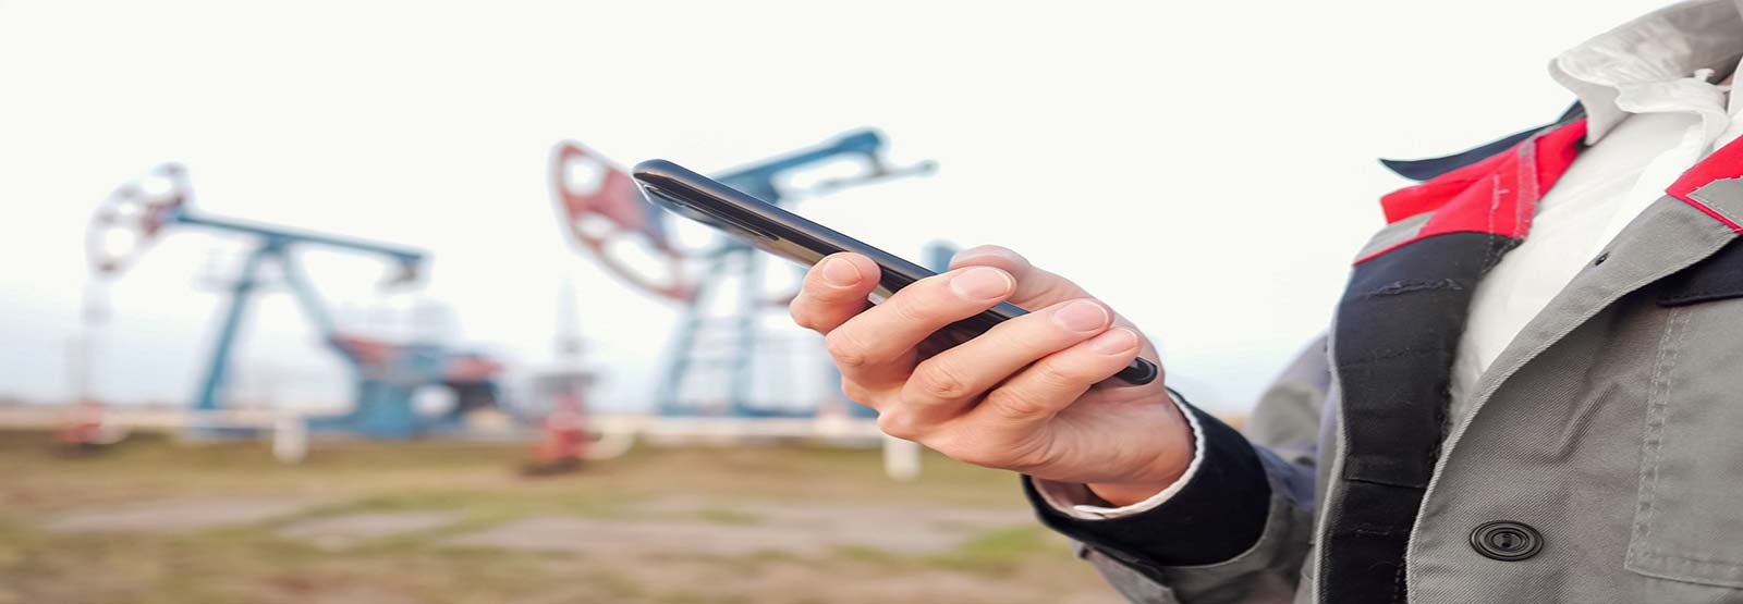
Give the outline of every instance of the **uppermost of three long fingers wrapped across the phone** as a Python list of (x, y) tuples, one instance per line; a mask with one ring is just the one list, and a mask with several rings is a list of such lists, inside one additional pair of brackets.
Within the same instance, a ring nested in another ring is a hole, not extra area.
[(971, 266), (922, 279), (826, 338), (842, 378), (861, 385), (905, 379), (913, 369), (915, 346), (948, 324), (1004, 301), (1016, 289), (1009, 273)]

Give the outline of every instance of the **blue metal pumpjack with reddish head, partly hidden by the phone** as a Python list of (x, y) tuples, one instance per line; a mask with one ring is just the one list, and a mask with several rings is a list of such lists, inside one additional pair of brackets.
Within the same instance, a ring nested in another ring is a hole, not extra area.
[[(765, 202), (786, 205), (797, 195), (783, 190), (781, 181), (798, 171), (814, 169), (821, 164), (858, 160), (865, 165), (865, 172), (856, 178), (819, 183), (804, 191), (807, 197), (887, 178), (924, 174), (934, 167), (931, 162), (922, 162), (919, 165), (892, 169), (884, 160), (884, 136), (877, 131), (856, 131), (821, 146), (720, 172), (715, 179)], [(607, 247), (594, 238), (596, 235), (587, 235), (579, 228), (573, 232), (573, 237), (591, 247), (607, 268), (619, 272), (631, 284), (685, 303), (678, 319), (678, 329), (669, 345), (668, 364), (655, 392), (657, 411), (662, 416), (725, 414), (737, 418), (804, 418), (816, 414), (817, 409), (784, 409), (755, 400), (756, 360), (769, 359), (769, 353), (760, 350), (763, 332), (760, 319), (770, 312), (781, 312), (781, 306), (791, 298), (769, 296), (765, 285), (767, 275), (763, 273), (767, 256), (732, 238), (722, 238), (715, 247), (694, 254), (676, 251), (666, 240), (668, 230), (661, 226), (666, 219), (664, 212), (643, 202), (640, 193), (629, 185), (627, 176), (621, 171), (610, 169), (601, 178), (601, 185), (594, 186), (591, 193), (572, 191), (561, 171), (568, 169), (565, 164), (575, 158), (600, 162), (577, 144), (566, 143), (558, 148), (553, 169), (558, 171), (558, 197), (565, 204), (565, 214), (568, 214), (565, 218), (572, 225), (580, 223), (584, 214), (608, 216), (619, 230), (636, 232), (640, 237), (652, 240), (654, 247), (666, 251), (673, 258), (682, 256), (699, 265), (694, 272), (697, 275), (694, 280), (678, 277), (655, 285), (652, 279), (633, 273), (626, 275), (622, 263), (608, 256)], [(718, 299), (718, 296), (727, 294), (734, 298)], [(718, 301), (725, 301), (725, 306), (729, 306), (727, 312), (713, 308)], [(838, 383), (840, 376), (833, 374), (833, 367), (826, 371), (828, 374), (821, 379)], [(694, 381), (722, 374), (727, 378), (722, 388), (694, 388), (706, 392), (706, 395), (687, 395), (687, 386)], [(852, 406), (852, 413), (870, 416), (872, 409)]]

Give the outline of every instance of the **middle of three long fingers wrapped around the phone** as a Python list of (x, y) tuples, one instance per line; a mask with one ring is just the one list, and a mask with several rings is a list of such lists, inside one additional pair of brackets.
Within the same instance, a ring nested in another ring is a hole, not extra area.
[(1102, 334), (1112, 322), (1114, 313), (1088, 298), (1002, 322), (919, 364), (903, 386), (901, 413), (917, 423), (957, 416), (1011, 374)]

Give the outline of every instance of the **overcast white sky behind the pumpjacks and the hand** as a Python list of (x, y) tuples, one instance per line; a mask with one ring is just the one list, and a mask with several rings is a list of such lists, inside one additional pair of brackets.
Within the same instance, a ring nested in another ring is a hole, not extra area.
[[(1133, 317), (1177, 388), (1238, 409), (1380, 226), (1403, 181), (1375, 157), (1553, 118), (1570, 96), (1544, 64), (1661, 3), (0, 0), (0, 399), (68, 395), (87, 216), (178, 160), (199, 211), (434, 252), (387, 298), (380, 265), (310, 258), (357, 329), (441, 305), (523, 374), (572, 282), (596, 399), (638, 406), (673, 312), (561, 240), (551, 146), (720, 169), (875, 125), (941, 171), (804, 214), (899, 254), (1020, 249)], [(221, 301), (202, 275), (241, 249), (178, 232), (115, 284), (98, 393), (193, 392)], [(288, 296), (258, 310), (241, 388), (345, 400)]]

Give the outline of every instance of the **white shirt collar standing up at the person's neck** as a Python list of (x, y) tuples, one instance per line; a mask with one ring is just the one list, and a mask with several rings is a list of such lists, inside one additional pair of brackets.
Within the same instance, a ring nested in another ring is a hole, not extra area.
[(1550, 77), (1579, 96), (1588, 117), (1586, 143), (1597, 143), (1628, 113), (1642, 110), (1630, 106), (1642, 89), (1699, 84), (1689, 75), (1731, 73), (1740, 57), (1743, 0), (1689, 0), (1562, 52), (1550, 61)]

